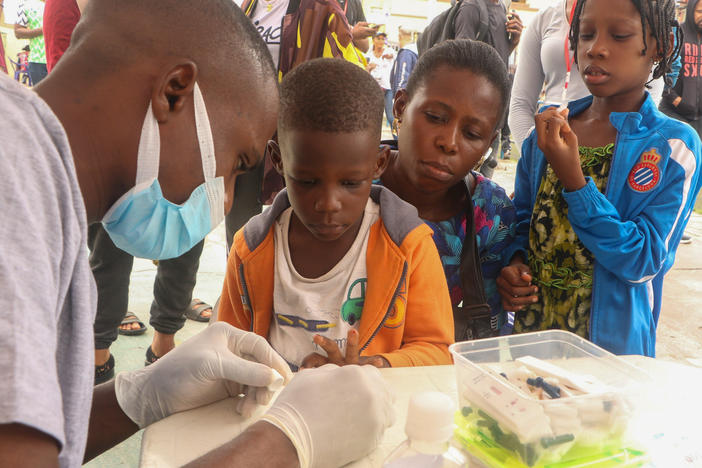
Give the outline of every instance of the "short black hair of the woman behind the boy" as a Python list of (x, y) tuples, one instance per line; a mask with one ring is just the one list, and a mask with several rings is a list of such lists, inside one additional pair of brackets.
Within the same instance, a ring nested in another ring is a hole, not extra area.
[(419, 57), (410, 75), (407, 82), (407, 94), (410, 99), (441, 66), (468, 70), (487, 78), (500, 93), (501, 112), (498, 113), (496, 128), (502, 127), (509, 104), (510, 83), (507, 65), (497, 51), (484, 42), (470, 39), (452, 39), (435, 45)]

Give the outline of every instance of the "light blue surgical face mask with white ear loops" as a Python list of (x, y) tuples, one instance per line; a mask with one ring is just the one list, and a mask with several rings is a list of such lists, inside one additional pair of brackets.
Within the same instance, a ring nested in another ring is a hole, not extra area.
[(161, 136), (149, 103), (139, 140), (136, 184), (102, 219), (112, 242), (135, 257), (152, 260), (179, 257), (224, 219), (224, 179), (215, 177), (212, 129), (197, 83), (193, 98), (205, 182), (182, 205), (163, 197), (158, 183)]

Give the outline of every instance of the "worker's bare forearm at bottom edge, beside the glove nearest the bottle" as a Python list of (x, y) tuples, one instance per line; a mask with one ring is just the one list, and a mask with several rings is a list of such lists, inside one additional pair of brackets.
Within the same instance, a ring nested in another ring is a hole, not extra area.
[(272, 424), (259, 421), (239, 437), (187, 465), (198, 467), (297, 468), (295, 446)]

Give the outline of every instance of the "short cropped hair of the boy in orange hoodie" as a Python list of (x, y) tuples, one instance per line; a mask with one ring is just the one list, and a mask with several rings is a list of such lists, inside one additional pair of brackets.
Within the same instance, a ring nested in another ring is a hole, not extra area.
[(383, 91), (370, 74), (346, 60), (299, 65), (280, 85), (278, 129), (328, 133), (380, 132)]

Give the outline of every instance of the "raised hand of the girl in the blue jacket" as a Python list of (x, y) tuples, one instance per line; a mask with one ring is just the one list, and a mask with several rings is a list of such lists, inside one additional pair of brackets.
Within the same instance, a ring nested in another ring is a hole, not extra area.
[(587, 181), (580, 167), (578, 137), (568, 123), (568, 109), (546, 109), (535, 118), (537, 144), (563, 188), (572, 192)]

